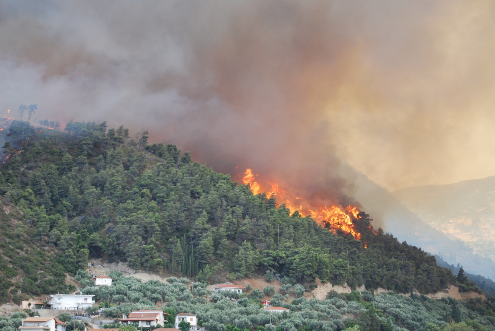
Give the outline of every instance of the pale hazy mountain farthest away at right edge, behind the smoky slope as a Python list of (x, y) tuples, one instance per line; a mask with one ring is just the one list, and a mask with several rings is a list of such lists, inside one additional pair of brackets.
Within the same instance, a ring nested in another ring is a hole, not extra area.
[(495, 176), (391, 193), (435, 229), (495, 260)]

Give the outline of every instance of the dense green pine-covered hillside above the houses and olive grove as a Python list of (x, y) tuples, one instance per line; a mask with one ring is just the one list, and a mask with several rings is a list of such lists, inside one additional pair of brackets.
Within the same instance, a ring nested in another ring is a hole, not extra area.
[[(280, 274), (306, 287), (318, 277), (403, 293), (457, 282), (421, 249), (380, 229), (375, 235), (363, 212), (353, 219), (361, 240), (335, 235), (175, 145), (149, 145), (147, 134), (129, 140), (127, 129), (107, 130), (104, 122), (71, 122), (63, 132), (12, 122), (3, 203), (24, 213), (20, 221), (33, 229), (26, 237), (55, 252), (68, 273), (94, 256), (202, 281)], [(21, 248), (17, 254), (30, 253)], [(5, 252), (1, 277), (8, 282), (13, 255)], [(40, 282), (32, 286), (46, 293)]]

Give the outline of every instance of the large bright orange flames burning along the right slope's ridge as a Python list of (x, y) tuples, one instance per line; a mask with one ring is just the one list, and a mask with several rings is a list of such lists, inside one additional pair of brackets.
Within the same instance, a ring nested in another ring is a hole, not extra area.
[[(246, 185), (249, 184), (253, 194), (258, 194), (263, 191), (261, 185), (256, 182), (256, 178), (251, 169), (246, 169), (243, 182)], [(355, 230), (354, 223), (352, 222), (353, 220), (358, 221), (361, 218), (357, 207), (349, 205), (344, 208), (336, 205), (332, 205), (331, 207), (318, 205), (311, 200), (304, 201), (303, 198), (280, 189), (275, 181), (267, 182), (267, 184), (270, 188), (265, 189), (266, 196), (270, 197), (272, 194), (275, 194), (277, 196), (277, 201), (280, 204), (285, 204), (286, 208), (289, 208), (291, 213), (297, 211), (302, 216), (311, 215), (322, 228), (328, 228), (334, 233), (339, 229), (346, 235), (351, 234), (354, 238), (361, 239), (361, 234)]]

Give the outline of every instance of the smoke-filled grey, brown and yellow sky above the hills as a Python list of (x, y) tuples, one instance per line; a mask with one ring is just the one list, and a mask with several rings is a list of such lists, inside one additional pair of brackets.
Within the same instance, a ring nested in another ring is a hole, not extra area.
[(493, 1), (0, 1), (0, 115), (315, 191), (352, 186), (338, 158), (389, 190), (495, 175), (494, 58)]

